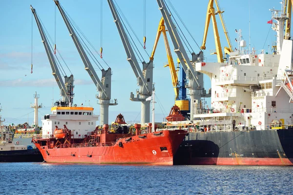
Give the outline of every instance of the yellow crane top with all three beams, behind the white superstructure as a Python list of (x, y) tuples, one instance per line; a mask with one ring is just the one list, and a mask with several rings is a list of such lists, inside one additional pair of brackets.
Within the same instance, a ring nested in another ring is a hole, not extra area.
[[(216, 7), (217, 7), (217, 11), (215, 12), (215, 8), (213, 7), (213, 2), (215, 1)], [(207, 35), (208, 35), (208, 30), (209, 30), (209, 22), (210, 22), (210, 18), (212, 19), (212, 26), (213, 26), (213, 32), (214, 32), (214, 38), (215, 38), (215, 44), (216, 44), (216, 52), (212, 53), (212, 54), (217, 54), (217, 59), (218, 62), (223, 62), (223, 52), (222, 52), (222, 47), (221, 47), (221, 42), (220, 42), (220, 37), (219, 37), (219, 32), (218, 32), (218, 26), (217, 26), (217, 22), (216, 22), (216, 17), (215, 15), (219, 15), (223, 29), (224, 29), (224, 34), (226, 36), (227, 42), (229, 47), (225, 47), (224, 48), (224, 53), (225, 54), (230, 54), (230, 52), (233, 51), (232, 49), (232, 44), (228, 35), (228, 31), (226, 28), (226, 24), (224, 21), (224, 18), (222, 16), (222, 13), (224, 13), (224, 11), (220, 10), (220, 6), (219, 6), (219, 2), (218, 0), (209, 0), (208, 3), (208, 11), (207, 11), (207, 17), (206, 17), (206, 24), (205, 24), (205, 31), (204, 31), (204, 37), (203, 37), (203, 44), (200, 47), (201, 49), (205, 50), (206, 49), (206, 40), (207, 40)]]

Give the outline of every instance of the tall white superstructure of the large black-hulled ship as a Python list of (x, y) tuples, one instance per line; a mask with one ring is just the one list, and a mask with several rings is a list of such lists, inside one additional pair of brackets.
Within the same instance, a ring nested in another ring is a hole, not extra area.
[[(273, 10), (272, 19), (277, 20), (272, 28), (283, 31), (278, 24), (287, 19), (286, 14)], [(244, 50), (246, 42), (239, 39), (239, 49), (230, 53), (227, 63), (196, 63), (196, 71), (211, 79), (212, 90), (210, 108), (194, 103), (198, 125), (214, 130), (263, 130), (292, 124), (293, 41), (283, 36), (280, 41), (277, 35), (272, 54)]]

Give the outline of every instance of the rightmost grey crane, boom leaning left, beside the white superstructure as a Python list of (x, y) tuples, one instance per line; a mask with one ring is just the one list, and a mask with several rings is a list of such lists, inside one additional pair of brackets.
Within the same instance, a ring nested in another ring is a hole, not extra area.
[[(179, 34), (177, 32), (177, 29), (171, 20), (170, 14), (167, 10), (167, 6), (164, 2), (164, 0), (157, 0), (159, 5), (159, 10), (161, 11), (161, 14), (165, 20), (170, 38), (172, 40), (174, 51), (178, 56), (178, 59), (180, 60), (180, 63), (187, 75), (187, 88), (189, 89), (190, 94), (190, 119), (193, 120), (193, 103), (195, 100), (198, 101), (198, 103), (201, 102), (201, 96), (203, 95), (203, 74), (195, 71), (195, 63), (192, 63), (188, 59), (188, 55), (185, 51), (185, 48), (182, 44), (182, 41), (179, 37)], [(202, 54), (202, 53), (200, 53)], [(200, 55), (199, 54), (199, 55)], [(197, 58), (194, 58), (196, 56), (195, 54), (192, 54), (192, 61), (196, 61)]]

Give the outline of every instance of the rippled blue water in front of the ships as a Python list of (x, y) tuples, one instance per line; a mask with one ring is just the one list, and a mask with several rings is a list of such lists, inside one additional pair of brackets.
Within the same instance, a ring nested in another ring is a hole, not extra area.
[(0, 163), (5, 195), (293, 195), (293, 167)]

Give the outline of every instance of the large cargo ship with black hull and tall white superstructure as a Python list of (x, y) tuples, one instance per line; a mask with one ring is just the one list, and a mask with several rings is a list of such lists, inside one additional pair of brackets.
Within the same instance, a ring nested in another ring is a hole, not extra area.
[(211, 79), (211, 104), (191, 102), (190, 120), (179, 109), (167, 117), (165, 129), (189, 132), (174, 164), (293, 165), (293, 40), (284, 34), (283, 8), (284, 0), (271, 10), (272, 51), (248, 49), (236, 30), (238, 48), (226, 61), (194, 63)]

